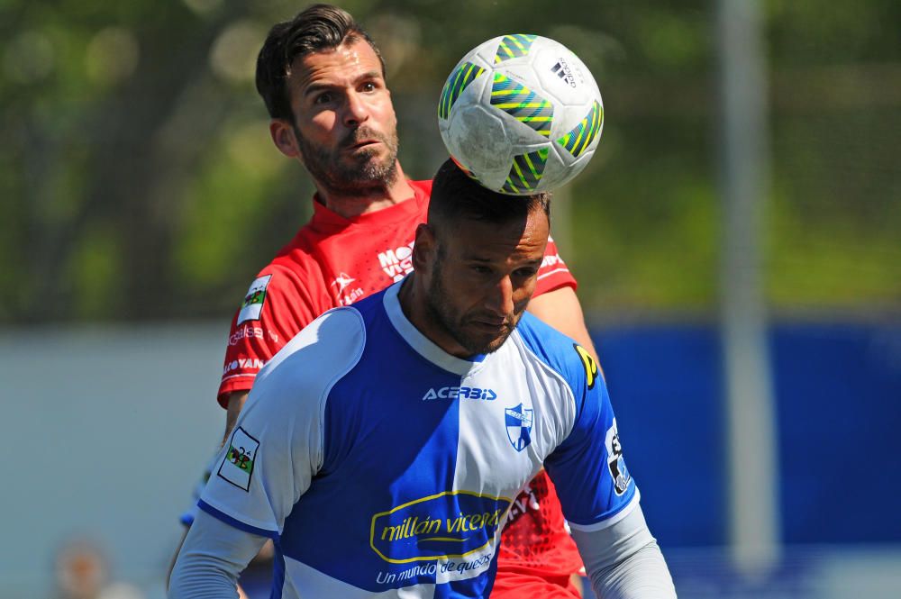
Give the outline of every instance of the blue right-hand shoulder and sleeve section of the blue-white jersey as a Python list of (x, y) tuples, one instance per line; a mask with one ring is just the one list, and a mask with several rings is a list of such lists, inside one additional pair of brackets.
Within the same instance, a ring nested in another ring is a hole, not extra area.
[[(566, 380), (576, 401), (572, 431), (544, 460), (563, 515), (581, 525), (613, 517), (632, 501), (636, 486), (625, 468), (603, 377), (589, 389), (586, 366), (573, 341), (531, 314), (523, 315), (517, 330), (526, 347)], [(585, 464), (606, 467), (580, 467)]]

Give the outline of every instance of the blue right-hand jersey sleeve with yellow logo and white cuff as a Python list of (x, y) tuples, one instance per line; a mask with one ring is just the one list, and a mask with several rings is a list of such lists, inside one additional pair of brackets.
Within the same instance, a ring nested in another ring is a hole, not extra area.
[(571, 347), (561, 374), (573, 391), (576, 419), (545, 467), (569, 525), (593, 530), (626, 515), (637, 503), (638, 489), (625, 466), (604, 378), (586, 349)]

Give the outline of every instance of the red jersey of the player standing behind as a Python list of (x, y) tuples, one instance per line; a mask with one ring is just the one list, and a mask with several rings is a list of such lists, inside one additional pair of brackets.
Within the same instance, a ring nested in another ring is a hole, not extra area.
[[(249, 391), (268, 359), (317, 316), (381, 291), (412, 272), (416, 226), (426, 220), (432, 181), (409, 183), (412, 200), (352, 218), (314, 201), (310, 222), (259, 271), (232, 319), (218, 395), (223, 407), (228, 394)], [(576, 279), (551, 240), (535, 295), (562, 286), (575, 287)], [(492, 597), (504, 596), (507, 567), (517, 576), (524, 568), (563, 579), (582, 567), (575, 543), (564, 530), (560, 502), (543, 472), (514, 503)], [(523, 587), (515, 586), (508, 596), (522, 596)]]

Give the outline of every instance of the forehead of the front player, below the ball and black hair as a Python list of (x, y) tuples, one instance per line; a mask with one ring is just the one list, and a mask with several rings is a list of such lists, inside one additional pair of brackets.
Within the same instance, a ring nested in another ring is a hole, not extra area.
[(447, 232), (442, 244), (456, 259), (525, 262), (544, 255), (550, 222), (539, 208), (503, 224), (460, 219)]

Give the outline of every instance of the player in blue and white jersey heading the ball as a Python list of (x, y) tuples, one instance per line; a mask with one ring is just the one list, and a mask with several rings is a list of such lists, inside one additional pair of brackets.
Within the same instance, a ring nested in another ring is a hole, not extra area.
[(413, 274), (260, 372), (170, 596), (235, 596), (272, 539), (276, 597), (487, 597), (513, 499), (546, 467), (596, 594), (675, 597), (594, 361), (524, 313), (549, 229), (547, 195), (445, 163)]

